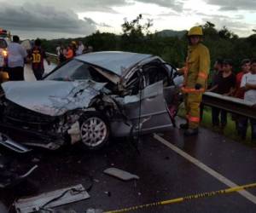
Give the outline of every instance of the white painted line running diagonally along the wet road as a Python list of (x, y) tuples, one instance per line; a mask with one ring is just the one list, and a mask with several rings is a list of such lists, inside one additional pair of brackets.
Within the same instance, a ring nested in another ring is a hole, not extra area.
[[(218, 181), (221, 181), (222, 183), (224, 183), (228, 187), (237, 187), (238, 186), (235, 182), (230, 181), (226, 177), (219, 174), (217, 171), (212, 170), (206, 164), (201, 163), (201, 161), (199, 161), (198, 159), (193, 158), (188, 153), (184, 153), (181, 149), (179, 149), (178, 147), (175, 147), (174, 145), (172, 145), (172, 143), (170, 143), (169, 141), (166, 141), (164, 138), (160, 137), (160, 135), (154, 134), (154, 138), (157, 141), (160, 141), (161, 143), (166, 145), (166, 147), (171, 148), (174, 152), (178, 153), (183, 158), (186, 158), (187, 160), (189, 160), (192, 164), (195, 164), (196, 166), (201, 168), (201, 170), (205, 170), (209, 175), (215, 177), (216, 179), (218, 179)], [(240, 193), (241, 196), (250, 200), (251, 202), (253, 202), (253, 204), (256, 204), (256, 197), (252, 193), (248, 193), (246, 190), (242, 190), (242, 191), (237, 192), (237, 193)]]

